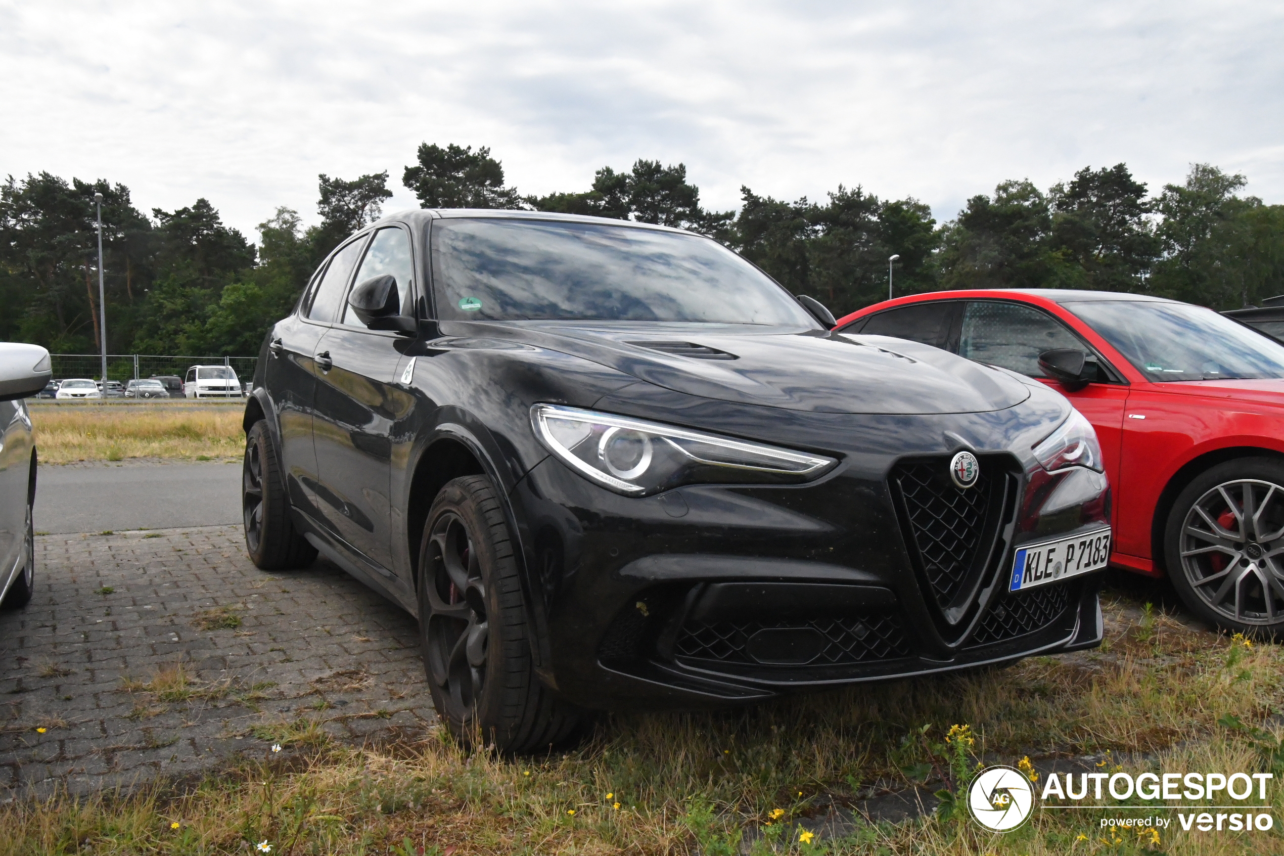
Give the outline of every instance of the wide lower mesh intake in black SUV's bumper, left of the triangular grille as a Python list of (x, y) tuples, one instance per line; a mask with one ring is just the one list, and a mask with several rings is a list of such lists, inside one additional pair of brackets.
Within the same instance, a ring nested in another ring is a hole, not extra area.
[(806, 624), (760, 621), (720, 621), (682, 628), (674, 653), (696, 660), (755, 663), (746, 652), (750, 637), (768, 629), (811, 629), (824, 637), (824, 646), (813, 666), (896, 660), (910, 656), (900, 619), (889, 615), (863, 615), (846, 619), (820, 619)]

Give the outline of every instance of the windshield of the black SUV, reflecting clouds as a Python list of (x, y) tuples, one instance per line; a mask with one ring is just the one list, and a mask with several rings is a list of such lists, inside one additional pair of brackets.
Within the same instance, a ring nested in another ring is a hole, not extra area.
[(438, 219), (433, 286), (442, 320), (817, 326), (785, 289), (719, 244), (628, 226)]

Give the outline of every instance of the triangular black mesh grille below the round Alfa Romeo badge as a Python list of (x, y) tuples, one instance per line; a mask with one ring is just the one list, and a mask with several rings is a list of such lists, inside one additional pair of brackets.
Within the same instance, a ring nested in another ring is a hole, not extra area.
[[(993, 459), (982, 462), (981, 475), (967, 489), (950, 480), (948, 458), (900, 463), (892, 470), (922, 570), (942, 610), (954, 604), (973, 579), (978, 557), (989, 553), (999, 522), (998, 515), (989, 513), (990, 501), (1003, 477)], [(987, 517), (993, 517), (989, 527)]]

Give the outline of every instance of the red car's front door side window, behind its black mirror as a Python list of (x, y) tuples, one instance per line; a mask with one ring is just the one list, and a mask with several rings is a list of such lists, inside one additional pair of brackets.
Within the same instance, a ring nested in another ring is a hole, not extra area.
[(963, 312), (959, 355), (1043, 377), (1039, 354), (1052, 348), (1089, 348), (1050, 314), (1019, 303), (975, 300)]

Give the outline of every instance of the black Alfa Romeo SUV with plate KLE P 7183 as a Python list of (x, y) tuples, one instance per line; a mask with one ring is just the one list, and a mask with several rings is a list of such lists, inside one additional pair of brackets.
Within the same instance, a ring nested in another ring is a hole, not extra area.
[(263, 343), (245, 539), (419, 616), (439, 715), (751, 702), (1098, 644), (1109, 492), (1055, 391), (828, 312), (706, 237), (416, 210)]

